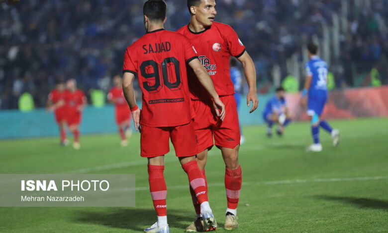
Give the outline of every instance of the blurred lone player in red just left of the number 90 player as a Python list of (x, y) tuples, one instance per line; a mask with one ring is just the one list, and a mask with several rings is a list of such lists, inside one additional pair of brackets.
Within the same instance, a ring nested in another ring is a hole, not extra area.
[(113, 84), (114, 86), (108, 93), (108, 100), (110, 103), (114, 104), (115, 107), (116, 123), (121, 137), (121, 146), (127, 146), (127, 136), (129, 137), (132, 133), (129, 122), (131, 111), (124, 98), (121, 77), (118, 75), (114, 76)]

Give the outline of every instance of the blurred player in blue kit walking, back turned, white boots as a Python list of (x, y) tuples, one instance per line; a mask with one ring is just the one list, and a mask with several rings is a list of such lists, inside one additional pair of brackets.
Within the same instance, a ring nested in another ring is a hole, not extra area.
[(309, 61), (306, 63), (306, 81), (302, 91), (301, 104), (305, 105), (307, 98), (307, 115), (311, 120), (311, 134), (314, 143), (307, 147), (307, 151), (322, 151), (319, 141), (319, 127), (331, 134), (333, 145), (339, 143), (339, 130), (333, 129), (326, 120), (322, 119), (323, 108), (327, 101), (327, 63), (317, 56), (318, 47), (315, 44), (307, 46)]

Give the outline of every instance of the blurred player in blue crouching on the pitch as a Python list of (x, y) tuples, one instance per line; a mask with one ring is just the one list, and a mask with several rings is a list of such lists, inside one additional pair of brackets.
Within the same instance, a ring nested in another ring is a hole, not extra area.
[(272, 136), (272, 125), (278, 124), (276, 133), (282, 136), (285, 127), (291, 122), (291, 117), (286, 105), (285, 90), (283, 87), (276, 89), (276, 95), (266, 104), (263, 112), (263, 118), (267, 122), (267, 136)]

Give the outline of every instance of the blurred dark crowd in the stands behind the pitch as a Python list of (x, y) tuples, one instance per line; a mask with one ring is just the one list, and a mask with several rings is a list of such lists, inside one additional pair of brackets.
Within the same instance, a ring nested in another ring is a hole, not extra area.
[[(370, 70), (388, 76), (388, 0), (357, 6), (348, 0), (349, 30), (333, 58), (337, 88), (367, 86)], [(216, 21), (239, 34), (257, 68), (258, 89), (272, 82), (272, 67), (288, 75), (286, 60), (306, 38), (322, 35), (322, 22), (341, 15), (342, 0), (217, 0)], [(167, 0), (166, 29), (190, 20), (186, 0)], [(142, 0), (21, 0), (0, 2), (0, 109), (17, 108), (24, 92), (44, 107), (58, 80), (75, 78), (85, 93), (105, 93), (120, 74), (125, 48), (144, 34)], [(302, 59), (302, 58), (300, 58)], [(357, 83), (357, 76), (362, 81)]]

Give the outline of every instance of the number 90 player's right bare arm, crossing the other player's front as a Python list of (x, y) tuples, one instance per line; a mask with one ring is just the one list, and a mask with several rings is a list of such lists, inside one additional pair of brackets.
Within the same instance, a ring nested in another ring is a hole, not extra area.
[[(225, 118), (225, 105), (219, 99), (217, 92), (215, 91), (213, 81), (211, 80), (209, 73), (203, 67), (201, 62), (198, 59), (193, 59), (189, 62), (189, 65), (193, 68), (195, 75), (198, 77), (199, 82), (206, 89), (206, 91), (210, 94), (211, 98), (213, 98), (213, 102), (215, 104), (215, 112), (221, 120)], [(218, 110), (221, 110), (219, 112)]]

